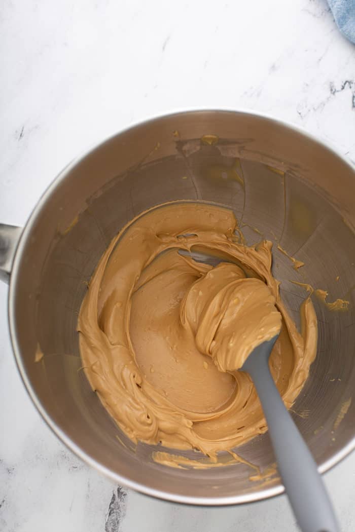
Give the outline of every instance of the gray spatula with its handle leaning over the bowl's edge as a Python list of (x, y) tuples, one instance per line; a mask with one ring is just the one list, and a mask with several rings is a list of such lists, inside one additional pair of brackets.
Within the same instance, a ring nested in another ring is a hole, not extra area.
[[(198, 262), (216, 266), (222, 259), (204, 253), (188, 253)], [(288, 413), (269, 370), (269, 356), (277, 336), (250, 353), (241, 368), (249, 373), (265, 414), (278, 470), (302, 532), (339, 532), (333, 506), (317, 464)]]

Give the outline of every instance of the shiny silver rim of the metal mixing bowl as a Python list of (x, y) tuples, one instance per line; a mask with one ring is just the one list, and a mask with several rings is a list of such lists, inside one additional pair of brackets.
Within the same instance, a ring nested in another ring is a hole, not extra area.
[[(64, 445), (69, 448), (70, 451), (75, 453), (82, 461), (90, 465), (90, 467), (93, 467), (97, 471), (100, 471), (101, 473), (103, 473), (103, 475), (115, 481), (116, 483), (123, 485), (127, 488), (134, 489), (135, 491), (142, 493), (144, 495), (151, 496), (154, 498), (159, 498), (161, 500), (174, 502), (174, 503), (191, 504), (191, 505), (199, 505), (199, 506), (226, 506), (226, 505), (245, 504), (245, 503), (261, 501), (261, 500), (274, 497), (274, 496), (284, 493), (285, 488), (282, 484), (279, 484), (278, 486), (269, 487), (266, 489), (260, 489), (258, 491), (255, 491), (253, 493), (248, 493), (248, 494), (239, 494), (239, 495), (231, 495), (231, 496), (223, 496), (223, 497), (216, 497), (216, 496), (215, 497), (201, 497), (201, 496), (194, 496), (194, 495), (187, 496), (187, 495), (164, 492), (160, 489), (148, 487), (145, 484), (138, 483), (134, 480), (131, 480), (130, 478), (120, 475), (119, 473), (114, 472), (111, 469), (105, 467), (100, 462), (97, 462), (95, 459), (93, 459), (92, 456), (84, 452), (80, 448), (80, 446), (78, 446), (75, 442), (73, 442), (72, 439), (51, 418), (51, 416), (47, 413), (45, 407), (40, 403), (37, 397), (37, 394), (36, 394), (36, 390), (32, 386), (26, 374), (24, 365), (22, 363), (21, 351), (20, 351), (20, 347), (19, 347), (19, 344), (16, 338), (16, 332), (15, 332), (15, 293), (16, 293), (16, 286), (18, 284), (18, 276), (19, 276), (24, 246), (27, 242), (28, 236), (30, 235), (32, 228), (35, 225), (36, 219), (40, 211), (42, 210), (43, 206), (45, 205), (45, 203), (47, 202), (48, 198), (51, 196), (53, 191), (56, 189), (56, 187), (59, 186), (60, 182), (63, 179), (65, 179), (65, 177), (68, 176), (68, 174), (71, 172), (73, 168), (76, 167), (77, 164), (79, 164), (87, 156), (92, 154), (96, 149), (101, 148), (104, 144), (109, 143), (112, 139), (122, 135), (126, 131), (130, 131), (136, 128), (138, 129), (141, 126), (144, 126), (146, 124), (153, 123), (155, 121), (159, 121), (162, 119), (173, 118), (174, 115), (194, 114), (194, 113), (203, 114), (206, 112), (219, 113), (219, 114), (220, 113), (234, 114), (236, 118), (238, 117), (238, 115), (250, 115), (251, 117), (257, 117), (260, 119), (268, 120), (274, 124), (277, 124), (278, 126), (290, 129), (304, 137), (307, 137), (309, 140), (312, 140), (312, 142), (316, 142), (317, 144), (328, 149), (328, 151), (330, 151), (334, 156), (338, 157), (343, 163), (348, 165), (349, 168), (355, 173), (355, 164), (353, 164), (350, 161), (350, 159), (347, 159), (339, 151), (339, 149), (336, 148), (336, 146), (330, 143), (327, 139), (322, 139), (316, 135), (311, 134), (309, 131), (304, 129), (302, 126), (296, 126), (295, 124), (291, 122), (287, 122), (281, 119), (276, 119), (269, 114), (253, 111), (252, 109), (244, 109), (244, 108), (228, 109), (228, 108), (223, 108), (223, 107), (222, 108), (204, 107), (202, 109), (198, 109), (195, 107), (190, 107), (190, 108), (184, 108), (184, 109), (175, 109), (175, 110), (171, 110), (169, 112), (162, 113), (159, 115), (151, 115), (149, 117), (146, 117), (140, 121), (137, 121), (131, 124), (128, 127), (125, 127), (113, 133), (112, 135), (103, 139), (101, 142), (95, 143), (91, 147), (87, 148), (85, 151), (83, 151), (80, 155), (75, 157), (75, 159), (73, 159), (67, 166), (63, 168), (63, 170), (56, 176), (56, 178), (51, 182), (51, 184), (49, 184), (49, 186), (45, 189), (42, 196), (40, 196), (38, 202), (36, 203), (34, 209), (32, 210), (26, 222), (26, 225), (23, 228), (22, 234), (19, 238), (18, 245), (16, 247), (16, 252), (15, 252), (11, 276), (10, 276), (9, 292), (8, 292), (8, 320), (9, 320), (9, 330), (10, 330), (10, 337), (11, 337), (11, 342), (12, 342), (14, 358), (15, 358), (15, 362), (19, 370), (22, 382), (32, 402), (36, 406), (38, 412), (40, 413), (40, 415), (42, 415), (42, 418), (47, 423), (47, 426), (64, 443)], [(355, 448), (355, 435), (344, 447), (341, 448), (341, 450), (337, 451), (331, 458), (329, 458), (325, 462), (319, 464), (318, 471), (320, 473), (325, 473), (329, 469), (333, 468), (334, 465), (339, 463), (341, 460), (345, 458), (345, 456), (350, 454), (354, 450), (354, 448)]]

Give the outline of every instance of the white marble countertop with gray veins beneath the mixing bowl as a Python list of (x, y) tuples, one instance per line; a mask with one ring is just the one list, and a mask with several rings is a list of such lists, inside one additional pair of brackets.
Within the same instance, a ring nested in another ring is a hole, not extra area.
[[(249, 107), (355, 161), (355, 46), (325, 0), (4, 0), (0, 221), (23, 225), (78, 152), (148, 115)], [(12, 356), (0, 285), (0, 530), (296, 530), (285, 496), (234, 508), (163, 503), (110, 483), (56, 439)], [(325, 476), (355, 530), (355, 454)]]

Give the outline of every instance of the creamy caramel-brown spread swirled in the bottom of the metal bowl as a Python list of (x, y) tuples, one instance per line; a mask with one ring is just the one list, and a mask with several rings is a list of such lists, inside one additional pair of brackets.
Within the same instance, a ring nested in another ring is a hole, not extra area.
[[(175, 202), (124, 227), (102, 256), (78, 330), (87, 378), (134, 441), (216, 458), (267, 430), (241, 368), (263, 340), (279, 338), (270, 369), (287, 408), (316, 355), (317, 319), (303, 302), (301, 332), (271, 273), (272, 243), (238, 242), (232, 211)], [(217, 267), (178, 250), (218, 255)]]

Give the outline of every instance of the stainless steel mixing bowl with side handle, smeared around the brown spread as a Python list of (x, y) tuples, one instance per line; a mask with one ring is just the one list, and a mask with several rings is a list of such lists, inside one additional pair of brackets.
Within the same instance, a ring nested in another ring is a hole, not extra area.
[[(216, 135), (218, 142), (203, 142), (204, 135)], [(230, 172), (236, 157), (244, 187)], [(342, 417), (355, 389), (354, 198), (354, 168), (333, 148), (247, 112), (193, 111), (149, 120), (72, 162), (40, 199), (21, 237), (18, 228), (0, 227), (13, 350), (49, 427), (87, 463), (148, 495), (223, 505), (283, 491), (278, 478), (251, 481), (245, 464), (179, 470), (154, 463), (152, 447), (132, 449), (79, 371), (78, 311), (111, 238), (148, 207), (201, 200), (233, 209), (247, 224), (249, 243), (260, 239), (257, 228), (305, 263), (297, 273), (275, 250), (274, 275), (295, 318), (306, 293), (291, 280), (326, 289), (331, 300), (350, 301), (347, 312), (332, 312), (315, 299), (318, 354), (293, 407), (319, 470), (339, 462), (355, 446), (355, 402)], [(44, 357), (38, 361), (39, 349)], [(267, 434), (237, 452), (261, 468), (274, 461)]]

